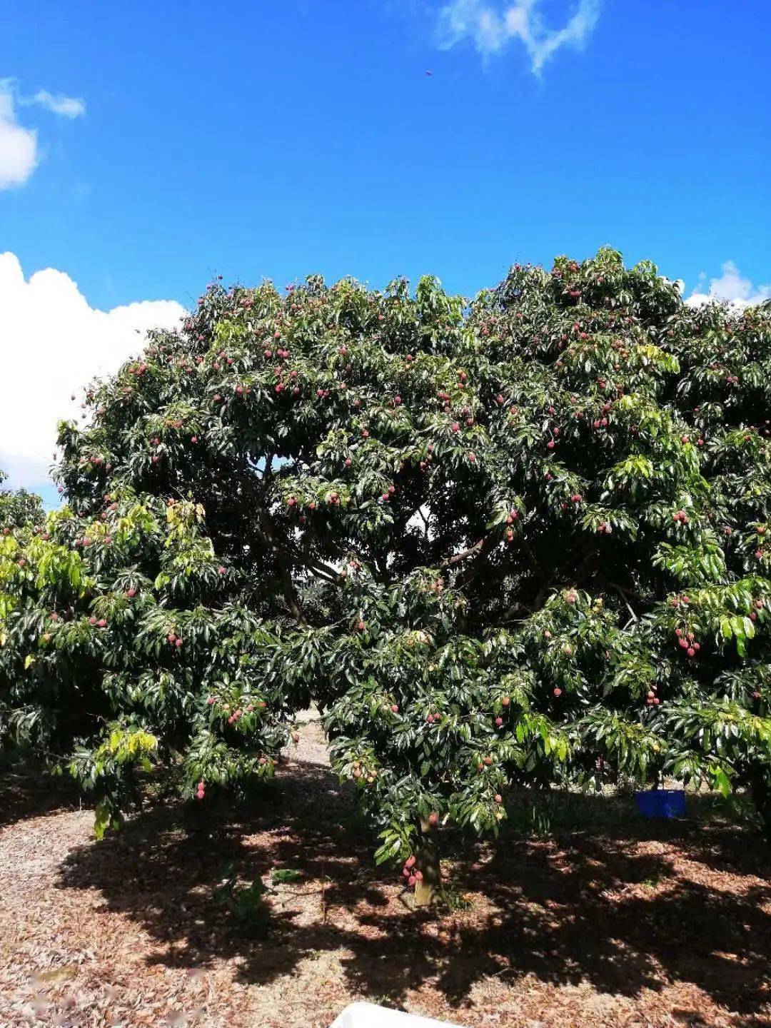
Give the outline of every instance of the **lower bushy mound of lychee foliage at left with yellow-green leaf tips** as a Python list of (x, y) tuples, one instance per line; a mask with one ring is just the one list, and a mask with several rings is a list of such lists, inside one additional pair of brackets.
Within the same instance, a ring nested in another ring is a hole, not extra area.
[(159, 759), (181, 788), (270, 776), (291, 697), (252, 668), (278, 640), (231, 595), (203, 509), (120, 486), (0, 536), (0, 745), (67, 767), (99, 836)]

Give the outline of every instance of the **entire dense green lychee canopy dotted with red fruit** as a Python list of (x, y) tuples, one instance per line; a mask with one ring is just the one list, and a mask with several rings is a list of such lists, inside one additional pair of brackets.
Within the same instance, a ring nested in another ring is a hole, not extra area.
[(768, 311), (609, 250), (471, 303), (215, 284), (86, 399), (68, 506), (0, 543), (0, 732), (76, 749), (103, 819), (144, 762), (271, 773), (313, 699), (382, 858), (518, 783), (771, 820)]

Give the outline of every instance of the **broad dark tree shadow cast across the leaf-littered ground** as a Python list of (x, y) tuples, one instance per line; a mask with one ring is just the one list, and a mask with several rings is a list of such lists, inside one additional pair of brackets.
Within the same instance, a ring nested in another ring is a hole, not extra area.
[[(678, 980), (748, 1018), (771, 999), (768, 852), (735, 824), (624, 823), (597, 797), (599, 823), (581, 807), (581, 828), (562, 825), (557, 838), (510, 835), (491, 849), (450, 836), (453, 892), (473, 893), (475, 905), (417, 912), (396, 876), (373, 867), (353, 790), (319, 765), (295, 763), (281, 777), (253, 809), (222, 811), (206, 829), (186, 823), (181, 806), (149, 809), (72, 851), (58, 884), (96, 887), (108, 909), (140, 923), (156, 943), (150, 962), (237, 958), (250, 984), (343, 950), (352, 990), (396, 1004), (432, 982), (461, 1006), (488, 976), (525, 975), (622, 996)], [(271, 896), (268, 937), (250, 939), (218, 888), (281, 868), (300, 880)], [(745, 880), (728, 883), (726, 868)]]

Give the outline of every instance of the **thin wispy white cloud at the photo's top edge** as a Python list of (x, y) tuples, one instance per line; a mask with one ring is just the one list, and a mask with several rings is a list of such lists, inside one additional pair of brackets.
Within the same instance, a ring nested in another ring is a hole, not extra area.
[(578, 0), (561, 29), (550, 29), (539, 8), (542, 0), (515, 0), (504, 6), (489, 0), (449, 0), (439, 10), (437, 34), (445, 49), (471, 40), (483, 57), (499, 53), (519, 39), (539, 75), (561, 46), (579, 48), (597, 24), (601, 0)]

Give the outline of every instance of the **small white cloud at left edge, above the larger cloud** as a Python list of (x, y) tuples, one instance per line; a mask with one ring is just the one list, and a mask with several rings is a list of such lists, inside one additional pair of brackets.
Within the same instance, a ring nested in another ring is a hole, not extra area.
[(47, 89), (24, 97), (14, 79), (0, 79), (0, 189), (23, 186), (38, 163), (37, 131), (19, 123), (16, 106), (43, 107), (65, 118), (85, 114), (85, 102), (79, 98), (54, 97)]

